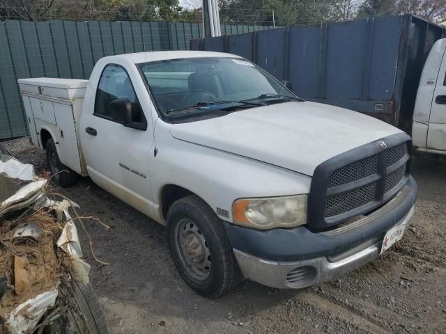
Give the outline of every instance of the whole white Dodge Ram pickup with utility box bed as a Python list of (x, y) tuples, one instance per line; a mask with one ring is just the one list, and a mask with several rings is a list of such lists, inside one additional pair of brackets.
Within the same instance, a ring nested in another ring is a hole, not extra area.
[(62, 186), (78, 175), (167, 225), (185, 281), (301, 288), (401, 239), (412, 143), (361, 113), (305, 102), (240, 56), (102, 58), (89, 81), (20, 79), (33, 143)]

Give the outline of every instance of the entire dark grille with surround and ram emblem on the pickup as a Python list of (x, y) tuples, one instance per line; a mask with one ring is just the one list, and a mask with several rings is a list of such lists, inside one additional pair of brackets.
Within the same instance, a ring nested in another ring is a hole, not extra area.
[(328, 230), (391, 200), (408, 180), (410, 152), (410, 136), (399, 132), (323, 161), (313, 173), (308, 228)]

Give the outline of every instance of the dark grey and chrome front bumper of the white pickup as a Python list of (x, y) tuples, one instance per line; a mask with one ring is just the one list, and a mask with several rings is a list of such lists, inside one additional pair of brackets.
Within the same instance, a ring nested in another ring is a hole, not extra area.
[(416, 197), (417, 184), (410, 177), (386, 205), (334, 230), (312, 233), (301, 226), (257, 231), (226, 224), (226, 233), (245, 278), (269, 287), (302, 288), (344, 275), (378, 257), (387, 230), (410, 225)]

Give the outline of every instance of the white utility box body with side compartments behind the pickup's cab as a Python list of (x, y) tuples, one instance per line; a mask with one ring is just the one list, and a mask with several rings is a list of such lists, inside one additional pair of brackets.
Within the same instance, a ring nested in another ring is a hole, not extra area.
[(18, 80), (31, 141), (45, 149), (50, 135), (61, 161), (81, 175), (86, 175), (86, 170), (77, 134), (88, 82), (56, 78)]

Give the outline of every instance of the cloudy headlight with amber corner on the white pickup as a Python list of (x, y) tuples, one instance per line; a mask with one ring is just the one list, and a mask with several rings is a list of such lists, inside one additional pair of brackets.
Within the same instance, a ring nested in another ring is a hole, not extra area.
[(244, 198), (233, 203), (233, 219), (251, 228), (293, 228), (307, 223), (307, 195)]

